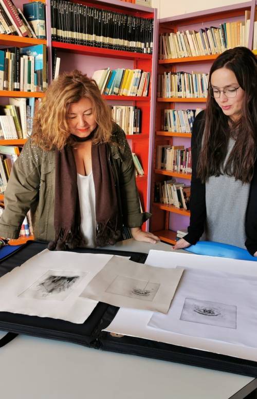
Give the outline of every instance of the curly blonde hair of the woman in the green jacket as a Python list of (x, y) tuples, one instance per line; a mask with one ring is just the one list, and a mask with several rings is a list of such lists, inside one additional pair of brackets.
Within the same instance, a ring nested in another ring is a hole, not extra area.
[(71, 144), (67, 123), (67, 112), (71, 103), (82, 98), (93, 104), (98, 125), (93, 143), (111, 141), (112, 115), (107, 103), (102, 99), (97, 83), (78, 70), (64, 72), (46, 90), (45, 97), (33, 121), (33, 142), (45, 150), (53, 147), (62, 149)]

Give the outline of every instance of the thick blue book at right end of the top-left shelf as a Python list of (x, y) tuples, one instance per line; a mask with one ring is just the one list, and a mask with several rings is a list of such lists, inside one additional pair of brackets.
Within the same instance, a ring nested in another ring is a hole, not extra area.
[(38, 39), (46, 39), (45, 5), (32, 2), (23, 5), (23, 12)]

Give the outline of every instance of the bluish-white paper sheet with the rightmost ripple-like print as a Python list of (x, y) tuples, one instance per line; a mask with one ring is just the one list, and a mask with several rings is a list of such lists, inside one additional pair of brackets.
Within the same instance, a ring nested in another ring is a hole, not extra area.
[(169, 312), (148, 325), (257, 348), (257, 277), (186, 269)]

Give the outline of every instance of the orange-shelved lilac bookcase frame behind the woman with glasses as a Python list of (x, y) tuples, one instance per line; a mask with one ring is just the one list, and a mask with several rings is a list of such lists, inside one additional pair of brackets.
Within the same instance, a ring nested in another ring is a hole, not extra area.
[[(219, 24), (232, 23), (245, 20), (245, 11), (250, 15), (249, 21), (249, 39), (248, 47), (252, 48), (253, 26), (255, 15), (256, 0), (250, 2), (234, 4), (231, 6), (218, 7), (214, 9), (177, 15), (159, 20), (158, 43), (160, 47), (160, 35), (163, 33), (176, 33), (181, 31), (199, 31), (200, 28), (218, 27)], [(254, 49), (257, 55), (257, 49)], [(198, 56), (181, 56), (181, 58), (158, 59), (158, 72), (203, 72), (208, 73), (213, 60), (218, 54), (206, 54)], [(206, 98), (157, 98), (156, 117), (155, 117), (155, 135), (153, 150), (153, 168), (152, 168), (152, 207), (153, 214), (151, 219), (150, 231), (154, 232), (164, 242), (175, 244), (176, 232), (178, 229), (185, 229), (189, 225), (190, 211), (182, 208), (176, 208), (174, 205), (154, 202), (154, 186), (156, 182), (176, 178), (177, 182), (189, 184), (190, 174), (177, 173), (166, 169), (156, 169), (155, 159), (158, 145), (184, 145), (190, 147), (191, 134), (176, 131), (163, 131), (162, 114), (164, 109), (186, 110), (195, 108), (205, 108)]]

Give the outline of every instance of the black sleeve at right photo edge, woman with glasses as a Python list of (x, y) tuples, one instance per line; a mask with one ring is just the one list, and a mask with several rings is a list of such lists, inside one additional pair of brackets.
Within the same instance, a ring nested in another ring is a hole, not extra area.
[(254, 175), (251, 181), (249, 200), (246, 211), (246, 241), (248, 252), (253, 255), (257, 251), (257, 162), (255, 161)]

